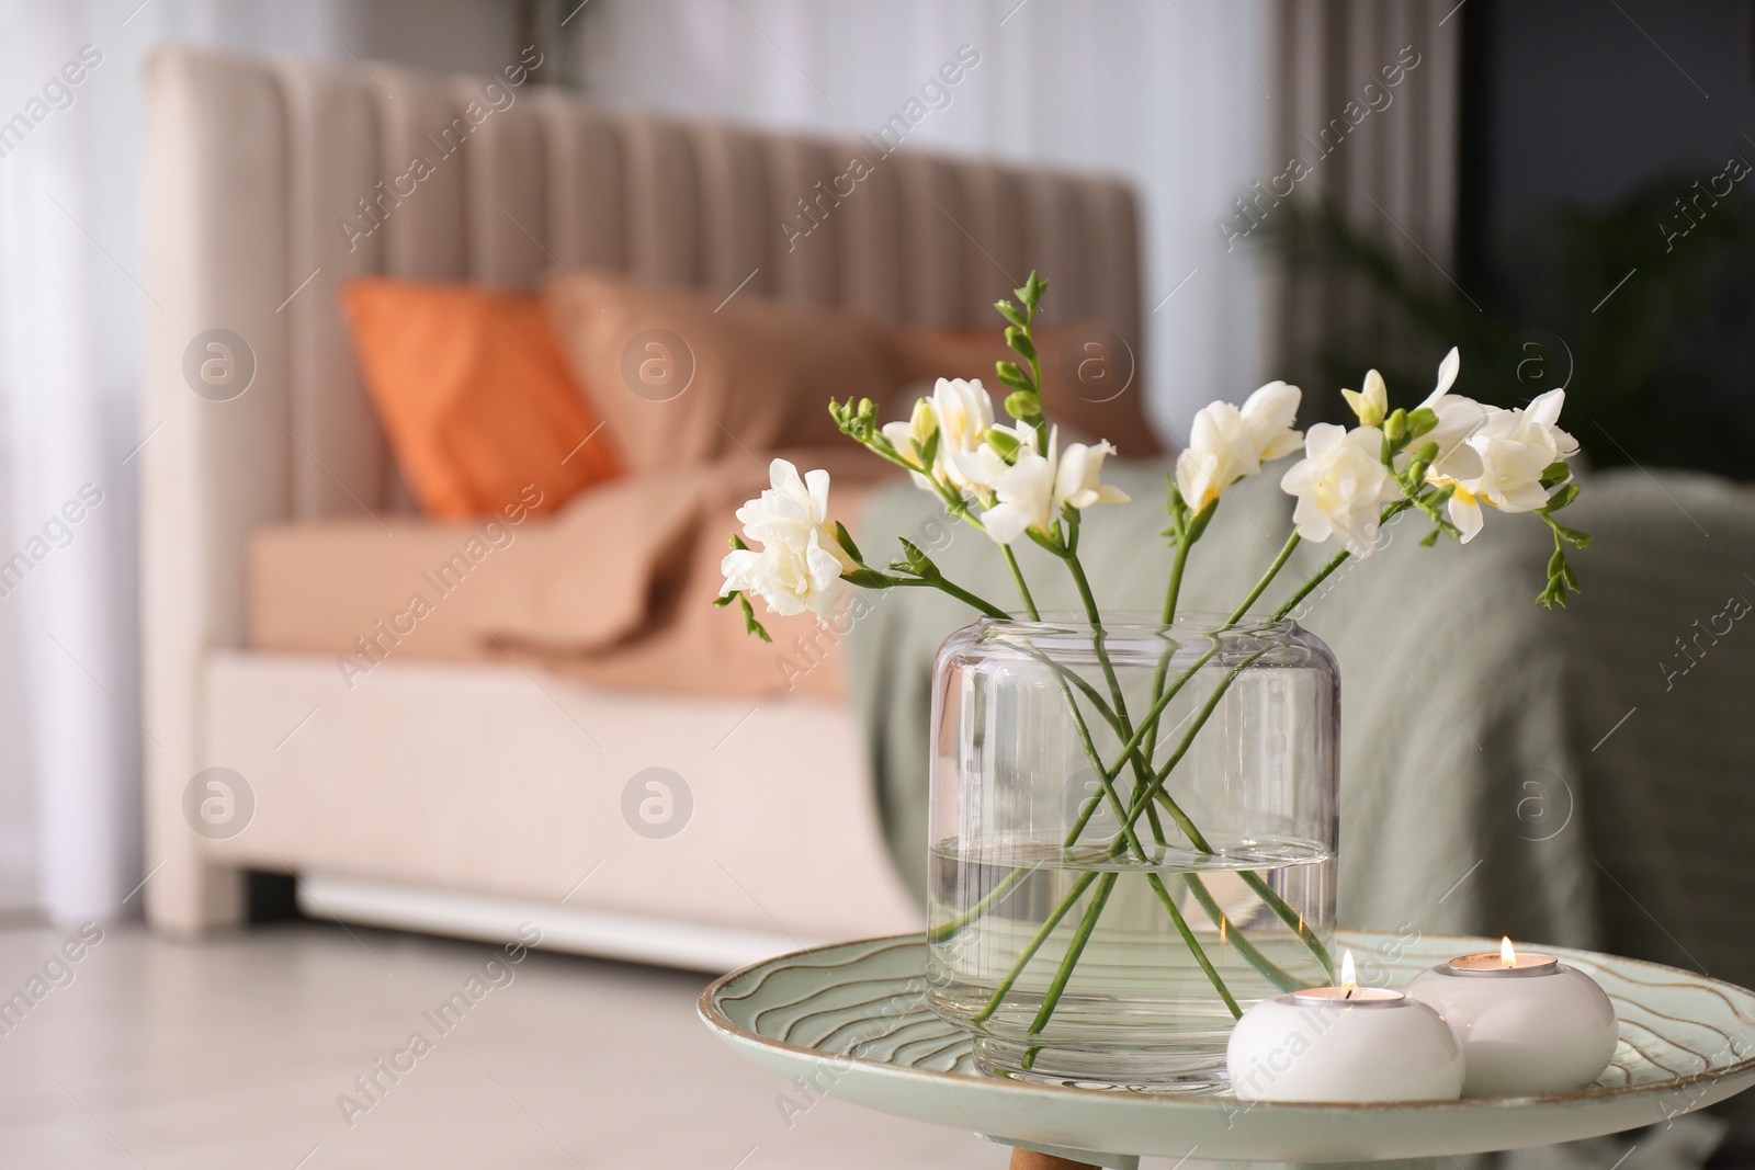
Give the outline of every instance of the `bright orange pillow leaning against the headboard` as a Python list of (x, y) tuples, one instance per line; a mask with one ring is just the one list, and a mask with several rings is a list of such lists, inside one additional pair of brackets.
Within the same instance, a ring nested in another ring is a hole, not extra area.
[[(421, 510), (534, 514), (614, 479), (620, 461), (574, 384), (542, 300), (365, 277), (342, 289), (377, 417)], [(534, 493), (532, 493), (534, 495)]]

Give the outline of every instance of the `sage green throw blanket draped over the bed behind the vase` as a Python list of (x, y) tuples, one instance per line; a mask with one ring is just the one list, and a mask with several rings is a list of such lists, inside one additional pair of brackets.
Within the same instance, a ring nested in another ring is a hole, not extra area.
[[(1164, 470), (1093, 509), (1083, 560), (1106, 609), (1158, 610)], [(1290, 531), (1279, 468), (1227, 493), (1190, 558), (1183, 610), (1228, 610)], [(1551, 537), (1490, 512), (1467, 547), (1422, 549), (1404, 514), (1299, 621), (1341, 661), (1344, 924), (1511, 935), (1650, 958), (1755, 986), (1755, 493), (1704, 475), (1608, 472), (1565, 523), (1585, 593), (1534, 603)], [(858, 533), (872, 563), (907, 535), (956, 582), (1016, 607), (1004, 563), (906, 484)], [(1258, 607), (1332, 554), (1300, 546)], [(1044, 610), (1076, 609), (1062, 565), (1020, 542)], [(849, 639), (890, 849), (925, 891), (927, 724), (939, 642), (974, 619), (930, 589), (878, 598)]]

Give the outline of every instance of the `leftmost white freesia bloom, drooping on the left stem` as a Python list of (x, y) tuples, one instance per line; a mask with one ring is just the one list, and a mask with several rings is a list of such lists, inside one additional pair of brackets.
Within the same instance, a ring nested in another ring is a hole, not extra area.
[(797, 467), (774, 460), (769, 482), (767, 491), (737, 509), (744, 539), (762, 547), (732, 549), (720, 561), (720, 596), (760, 596), (770, 614), (783, 617), (828, 614), (846, 591), (841, 574), (853, 568), (828, 524), (828, 472), (800, 479)]

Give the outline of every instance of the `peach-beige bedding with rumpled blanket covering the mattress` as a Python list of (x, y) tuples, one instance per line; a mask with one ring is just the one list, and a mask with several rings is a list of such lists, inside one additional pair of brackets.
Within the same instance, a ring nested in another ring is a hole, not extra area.
[[(783, 456), (830, 468), (837, 516), (886, 477), (851, 444)], [(553, 519), (269, 526), (251, 540), (251, 646), (333, 656), (349, 684), (391, 660), (511, 658), (614, 688), (839, 696), (834, 628), (763, 612), (767, 646), (709, 605), (732, 512), (767, 477), (737, 453), (604, 484)]]

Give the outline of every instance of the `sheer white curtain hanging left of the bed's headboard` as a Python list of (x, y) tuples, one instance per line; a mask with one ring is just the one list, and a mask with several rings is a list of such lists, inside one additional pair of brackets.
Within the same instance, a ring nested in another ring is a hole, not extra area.
[(179, 40), (467, 70), (504, 60), (512, 28), (486, 0), (0, 0), (0, 917), (137, 914), (149, 868), (130, 458), (151, 442), (135, 395), (160, 312), (139, 282), (142, 60)]

